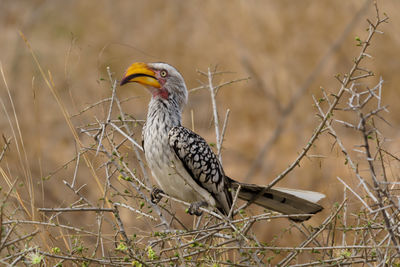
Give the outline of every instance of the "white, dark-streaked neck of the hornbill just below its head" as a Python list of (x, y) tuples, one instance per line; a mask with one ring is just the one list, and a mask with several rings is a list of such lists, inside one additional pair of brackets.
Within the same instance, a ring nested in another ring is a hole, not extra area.
[(163, 131), (168, 134), (169, 130), (181, 125), (182, 108), (171, 98), (152, 97), (147, 112), (146, 127), (151, 131)]

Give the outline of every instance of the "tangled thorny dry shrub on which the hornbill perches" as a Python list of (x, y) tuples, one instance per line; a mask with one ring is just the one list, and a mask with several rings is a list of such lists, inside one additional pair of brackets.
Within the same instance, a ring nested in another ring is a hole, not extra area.
[[(104, 265), (104, 266), (348, 266), (400, 265), (399, 255), (399, 196), (398, 168), (400, 159), (388, 149), (382, 125), (388, 124), (382, 94), (384, 82), (374, 83), (374, 73), (366, 68), (371, 55), (368, 48), (375, 34), (388, 17), (378, 10), (376, 18), (368, 22), (365, 39), (356, 38), (360, 47), (350, 70), (337, 75), (336, 91), (321, 89), (314, 97), (320, 119), (312, 136), (298, 157), (287, 169), (269, 183), (275, 186), (292, 172), (320, 142), (331, 142), (332, 149), (342, 153), (343, 164), (349, 168), (349, 177), (337, 177), (343, 184), (343, 201), (326, 207), (327, 217), (318, 226), (292, 223), (281, 233), (288, 236), (298, 231), (303, 241), (293, 246), (281, 246), (279, 238), (268, 243), (259, 241), (253, 231), (256, 223), (288, 216), (263, 211), (249, 211), (251, 203), (240, 203), (237, 195), (231, 210), (234, 219), (227, 220), (217, 212), (202, 208), (203, 215), (193, 217), (193, 224), (182, 221), (179, 211), (190, 203), (163, 195), (158, 205), (150, 201), (151, 179), (144, 162), (141, 143), (142, 120), (124, 111), (116, 94), (117, 81), (107, 68), (110, 96), (87, 106), (75, 115), (68, 114), (51, 75), (46, 74), (32, 50), (32, 56), (43, 79), (53, 93), (64, 118), (75, 138), (76, 156), (61, 168), (74, 165), (74, 175), (63, 180), (66, 194), (74, 196), (63, 207), (46, 205), (40, 208), (26, 206), (16, 190), (18, 180), (12, 181), (0, 169), (9, 184), (1, 199), (0, 262), (6, 266), (19, 265)], [(27, 41), (26, 41), (27, 42)], [(27, 42), (30, 49), (29, 43)], [(216, 135), (216, 152), (222, 161), (222, 145), (228, 124), (229, 109), (220, 121), (217, 93), (225, 86), (241, 82), (237, 79), (216, 83), (223, 75), (217, 69), (199, 71), (205, 81), (196, 90), (209, 90)], [(247, 78), (246, 78), (247, 79)], [(4, 74), (3, 80), (6, 81)], [(107, 106), (104, 118), (78, 127), (71, 122), (100, 105)], [(4, 106), (4, 104), (3, 104)], [(221, 127), (222, 125), (222, 127)], [(347, 144), (343, 130), (352, 131), (354, 142)], [(7, 155), (12, 140), (3, 137), (0, 161)], [(84, 163), (84, 164), (82, 164)], [(82, 169), (89, 169), (92, 177), (83, 177)], [(58, 170), (49, 174), (57, 173)], [(97, 188), (86, 191), (86, 181), (94, 179)], [(95, 192), (95, 193), (90, 193)], [(93, 194), (95, 196), (93, 196)], [(12, 196), (12, 200), (11, 199)], [(329, 212), (330, 211), (330, 212)], [(88, 221), (71, 225), (71, 213), (90, 214)], [(93, 215), (93, 216), (92, 216)], [(93, 246), (87, 244), (94, 244)]]

